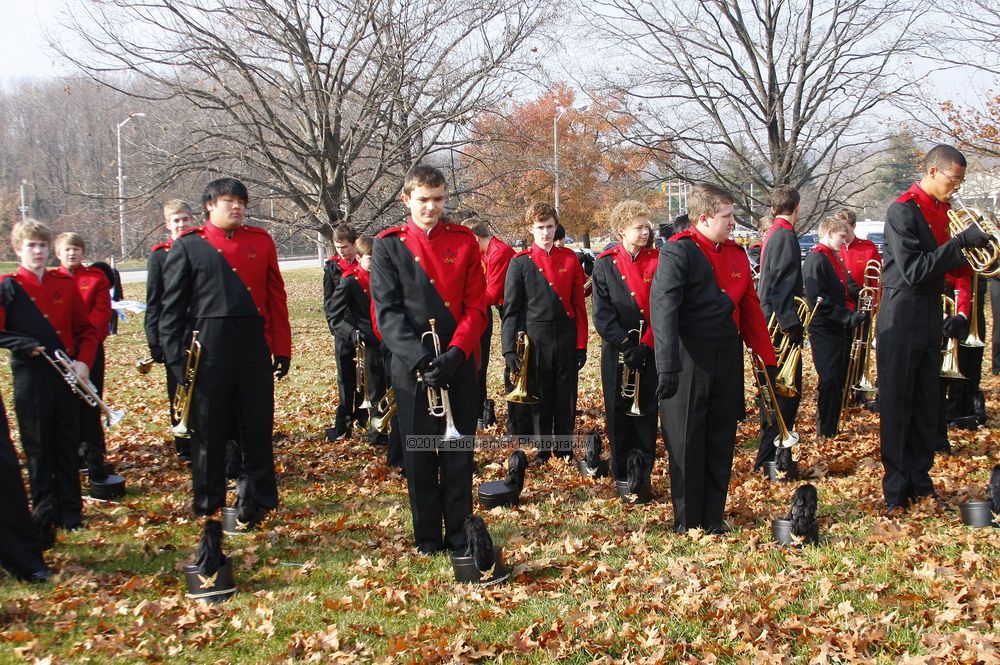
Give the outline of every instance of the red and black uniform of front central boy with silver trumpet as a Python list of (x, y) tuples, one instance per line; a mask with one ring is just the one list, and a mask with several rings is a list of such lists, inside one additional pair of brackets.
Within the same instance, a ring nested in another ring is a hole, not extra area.
[[(382, 342), (392, 352), (392, 386), (404, 446), (416, 547), (423, 552), (466, 547), (463, 523), (472, 513), (471, 450), (438, 450), (445, 419), (428, 413), (427, 389), (417, 381), (434, 359), (434, 319), (442, 355), (464, 356), (447, 383), (452, 418), (463, 436), (479, 418), (479, 343), (486, 326), (486, 288), (479, 242), (461, 225), (437, 223), (430, 232), (415, 222), (386, 229), (372, 250), (371, 293)], [(424, 447), (424, 444), (430, 444)], [(444, 533), (442, 535), (442, 523)]]

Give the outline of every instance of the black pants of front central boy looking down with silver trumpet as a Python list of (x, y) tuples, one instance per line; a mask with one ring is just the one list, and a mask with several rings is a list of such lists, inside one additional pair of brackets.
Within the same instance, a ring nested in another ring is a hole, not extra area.
[[(397, 365), (392, 364), (392, 382), (416, 546), (427, 552), (444, 547), (464, 551), (463, 527), (465, 518), (472, 514), (472, 450), (436, 448), (433, 439), (444, 433), (445, 419), (428, 413), (427, 389), (406, 368)], [(476, 360), (469, 358), (455, 373), (447, 391), (452, 419), (464, 437), (476, 431), (477, 381)], [(407, 441), (407, 437), (413, 438)]]

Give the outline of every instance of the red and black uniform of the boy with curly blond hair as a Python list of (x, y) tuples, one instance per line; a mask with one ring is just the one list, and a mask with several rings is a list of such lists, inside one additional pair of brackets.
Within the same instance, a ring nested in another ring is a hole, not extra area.
[[(594, 263), (594, 328), (601, 336), (601, 386), (604, 389), (605, 419), (611, 448), (614, 480), (627, 480), (628, 458), (639, 450), (652, 460), (656, 456), (656, 361), (653, 355), (653, 328), (650, 325), (649, 294), (659, 265), (659, 252), (642, 248), (635, 256), (623, 245), (602, 252)], [(643, 324), (641, 339), (633, 330)], [(632, 351), (630, 351), (630, 349)], [(638, 394), (622, 397), (622, 363), (637, 361)], [(641, 416), (629, 416), (637, 402)]]

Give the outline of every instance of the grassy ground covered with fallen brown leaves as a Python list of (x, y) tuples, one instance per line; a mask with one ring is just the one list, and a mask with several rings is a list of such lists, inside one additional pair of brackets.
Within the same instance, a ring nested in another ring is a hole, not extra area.
[[(60, 533), (53, 583), (0, 577), (0, 662), (1000, 662), (998, 532), (958, 517), (961, 501), (985, 496), (993, 430), (952, 431), (955, 454), (933, 470), (941, 501), (884, 517), (877, 417), (852, 411), (845, 433), (818, 443), (807, 361), (796, 456), (819, 490), (819, 546), (773, 542), (770, 520), (796, 484), (752, 472), (757, 427), (746, 422), (731, 534), (671, 532), (661, 441), (649, 505), (623, 504), (609, 481), (560, 462), (529, 467), (520, 507), (482, 513), (513, 583), (459, 585), (447, 556), (412, 549), (405, 482), (383, 450), (323, 438), (336, 387), (321, 275), (286, 279), (295, 357), (276, 390), (282, 506), (263, 530), (226, 538), (239, 593), (214, 606), (184, 597), (180, 568), (198, 538), (190, 481), (166, 435), (162, 368), (132, 366), (145, 351), (132, 319), (109, 340), (106, 390), (128, 412), (108, 435), (128, 496), (88, 501), (87, 528)], [(603, 431), (591, 335), (581, 432)], [(496, 356), (492, 369), (499, 407)], [(10, 405), (6, 369), (3, 386)], [(996, 422), (998, 386), (987, 371)], [(504, 460), (478, 453), (476, 484), (502, 478)]]

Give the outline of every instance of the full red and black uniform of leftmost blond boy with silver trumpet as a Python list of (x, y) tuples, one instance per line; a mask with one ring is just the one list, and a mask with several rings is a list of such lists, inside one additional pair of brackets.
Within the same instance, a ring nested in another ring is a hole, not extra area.
[(38, 277), (21, 267), (0, 281), (0, 346), (12, 351), (14, 411), (21, 446), (28, 458), (32, 504), (55, 498), (59, 523), (68, 528), (82, 522), (80, 497), (80, 409), (62, 375), (41, 355), (62, 350), (93, 367), (97, 331), (72, 277), (55, 269)]

